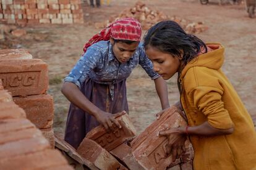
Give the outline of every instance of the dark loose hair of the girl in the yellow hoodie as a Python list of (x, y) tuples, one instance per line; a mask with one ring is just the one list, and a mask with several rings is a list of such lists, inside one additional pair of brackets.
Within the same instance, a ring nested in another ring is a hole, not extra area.
[[(148, 45), (181, 57), (185, 65), (197, 57), (201, 51), (207, 52), (207, 46), (201, 39), (187, 34), (179, 24), (171, 20), (156, 23), (147, 31), (144, 36), (145, 49)], [(184, 52), (183, 56), (181, 51)]]

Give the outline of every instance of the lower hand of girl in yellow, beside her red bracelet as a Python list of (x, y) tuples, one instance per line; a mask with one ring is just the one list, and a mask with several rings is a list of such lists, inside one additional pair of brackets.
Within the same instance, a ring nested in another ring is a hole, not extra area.
[(173, 153), (173, 161), (181, 157), (181, 154), (185, 152), (185, 141), (187, 137), (184, 135), (184, 127), (178, 127), (169, 129), (167, 131), (160, 131), (158, 136), (166, 136), (168, 138), (168, 144), (166, 144), (166, 156)]

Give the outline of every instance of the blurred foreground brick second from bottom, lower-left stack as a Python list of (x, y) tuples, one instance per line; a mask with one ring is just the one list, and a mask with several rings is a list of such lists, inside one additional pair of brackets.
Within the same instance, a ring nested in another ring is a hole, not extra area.
[(43, 136), (8, 142), (0, 145), (0, 160), (11, 158), (12, 156), (39, 152), (46, 148), (50, 148), (50, 145)]

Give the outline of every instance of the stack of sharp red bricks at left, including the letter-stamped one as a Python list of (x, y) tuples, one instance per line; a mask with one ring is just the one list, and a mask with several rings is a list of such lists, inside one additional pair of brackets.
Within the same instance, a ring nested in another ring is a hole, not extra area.
[(53, 97), (48, 89), (48, 65), (32, 59), (23, 49), (0, 50), (0, 79), (14, 102), (25, 110), (27, 119), (43, 132), (54, 148)]

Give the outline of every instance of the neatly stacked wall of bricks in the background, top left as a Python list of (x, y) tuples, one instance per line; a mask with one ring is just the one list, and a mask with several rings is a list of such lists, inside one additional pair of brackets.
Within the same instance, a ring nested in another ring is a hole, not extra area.
[(0, 21), (18, 25), (83, 23), (81, 0), (0, 0)]

